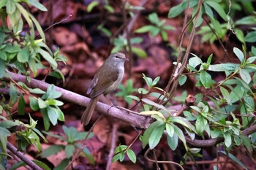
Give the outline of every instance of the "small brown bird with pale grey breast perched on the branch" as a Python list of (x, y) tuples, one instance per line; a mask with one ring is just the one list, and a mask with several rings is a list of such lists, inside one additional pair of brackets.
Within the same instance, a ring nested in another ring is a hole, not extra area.
[(87, 90), (87, 94), (90, 94), (91, 100), (89, 102), (86, 111), (83, 112), (81, 123), (87, 125), (91, 120), (91, 115), (94, 112), (99, 96), (103, 94), (106, 96), (108, 93), (116, 90), (124, 77), (124, 62), (128, 61), (124, 53), (113, 53), (99, 68), (94, 79), (91, 81), (91, 85)]

